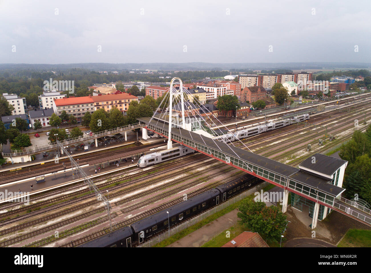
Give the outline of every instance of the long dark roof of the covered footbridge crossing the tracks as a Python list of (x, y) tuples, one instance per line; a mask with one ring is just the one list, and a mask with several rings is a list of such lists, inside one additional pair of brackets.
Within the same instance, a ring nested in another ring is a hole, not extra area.
[[(151, 120), (150, 117), (142, 117), (137, 119), (142, 123), (150, 124), (152, 126), (157, 127), (158, 129), (163, 129), (165, 131), (168, 130), (168, 124), (164, 124), (159, 120), (152, 120), (150, 122)], [(252, 152), (248, 152), (247, 150), (243, 150), (223, 142), (215, 141), (213, 139), (210, 139), (209, 137), (202, 136), (200, 134), (193, 133), (188, 130), (180, 128), (171, 128), (171, 132), (179, 136), (185, 137), (193, 142), (200, 143), (203, 146), (209, 147), (216, 151), (220, 151), (220, 153), (224, 153), (226, 155), (230, 155), (233, 157), (237, 156), (240, 159), (244, 160), (245, 162), (249, 162), (252, 165), (266, 169), (269, 172), (276, 173), (290, 180), (297, 181), (303, 185), (309, 186), (310, 188), (322, 191), (325, 194), (336, 197), (340, 195), (343, 191), (345, 191), (344, 188), (329, 183), (331, 179), (326, 180), (323, 178), (319, 178), (315, 175), (302, 172), (298, 168), (286, 165), (284, 163), (280, 163), (273, 159), (269, 159), (267, 157), (260, 156)]]

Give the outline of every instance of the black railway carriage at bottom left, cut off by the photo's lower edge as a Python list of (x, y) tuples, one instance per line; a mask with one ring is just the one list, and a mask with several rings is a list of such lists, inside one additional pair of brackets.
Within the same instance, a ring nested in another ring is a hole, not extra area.
[(120, 228), (80, 247), (131, 247), (133, 231), (130, 227)]

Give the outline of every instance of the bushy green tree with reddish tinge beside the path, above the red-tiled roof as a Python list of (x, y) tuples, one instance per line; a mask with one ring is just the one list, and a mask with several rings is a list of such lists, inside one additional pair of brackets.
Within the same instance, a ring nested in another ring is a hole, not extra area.
[(278, 207), (266, 207), (264, 202), (243, 199), (237, 217), (245, 228), (263, 235), (268, 241), (277, 242), (286, 227), (286, 215)]

